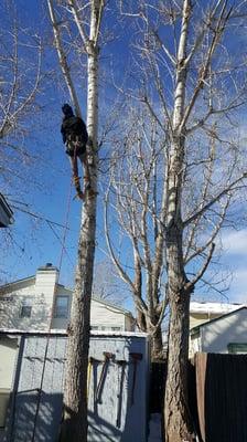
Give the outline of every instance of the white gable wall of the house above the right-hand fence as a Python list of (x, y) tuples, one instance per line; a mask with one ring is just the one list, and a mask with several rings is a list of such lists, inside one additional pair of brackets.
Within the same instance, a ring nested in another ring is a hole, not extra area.
[(201, 327), (202, 351), (228, 352), (228, 344), (247, 344), (247, 308)]

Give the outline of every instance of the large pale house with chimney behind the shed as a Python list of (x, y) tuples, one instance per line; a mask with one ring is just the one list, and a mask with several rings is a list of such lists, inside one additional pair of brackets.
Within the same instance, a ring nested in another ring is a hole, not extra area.
[[(73, 291), (58, 283), (51, 263), (36, 275), (0, 287), (0, 328), (19, 330), (66, 329)], [(131, 332), (130, 312), (93, 296), (90, 324), (94, 330)]]

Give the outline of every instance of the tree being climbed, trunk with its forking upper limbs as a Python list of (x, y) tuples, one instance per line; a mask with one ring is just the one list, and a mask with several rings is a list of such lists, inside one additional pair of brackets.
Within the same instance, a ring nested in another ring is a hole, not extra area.
[[(57, 23), (52, 0), (47, 0), (53, 25), (55, 46), (60, 65), (68, 86), (71, 99), (80, 115), (76, 87), (71, 75), (66, 53), (63, 48), (61, 27)], [(94, 274), (95, 234), (96, 234), (96, 194), (98, 170), (98, 55), (99, 30), (104, 10), (103, 0), (90, 0), (86, 6), (82, 1), (67, 0), (63, 8), (76, 24), (80, 44), (87, 57), (87, 130), (93, 161), (90, 182), (94, 196), (86, 196), (82, 211), (82, 225), (78, 241), (75, 291), (72, 305), (72, 319), (67, 344), (67, 364), (64, 391), (64, 422), (62, 441), (79, 442), (87, 440), (87, 360), (90, 329), (90, 299)], [(85, 21), (89, 19), (88, 25)], [(89, 31), (88, 31), (89, 30)], [(88, 31), (88, 33), (87, 33)]]

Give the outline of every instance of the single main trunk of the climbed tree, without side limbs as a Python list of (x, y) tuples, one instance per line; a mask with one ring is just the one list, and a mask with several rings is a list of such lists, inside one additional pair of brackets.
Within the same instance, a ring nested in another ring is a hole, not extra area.
[(82, 212), (78, 257), (73, 296), (72, 320), (67, 343), (62, 442), (87, 441), (87, 365), (90, 337), (90, 301), (94, 274), (97, 196), (98, 131), (98, 17), (100, 0), (92, 0), (88, 54), (87, 130), (93, 156), (90, 185)]

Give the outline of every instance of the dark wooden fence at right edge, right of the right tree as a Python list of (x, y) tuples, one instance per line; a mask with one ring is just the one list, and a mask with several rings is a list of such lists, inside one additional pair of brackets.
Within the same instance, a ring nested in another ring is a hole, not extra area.
[(195, 365), (203, 442), (247, 441), (247, 356), (197, 354)]

